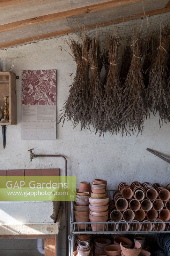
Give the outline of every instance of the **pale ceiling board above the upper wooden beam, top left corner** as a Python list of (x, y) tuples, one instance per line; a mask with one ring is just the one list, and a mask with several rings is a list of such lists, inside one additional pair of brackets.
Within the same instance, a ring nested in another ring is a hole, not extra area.
[[(1, 0), (0, 0), (1, 1)], [(18, 4), (0, 6), (0, 25), (31, 19), (37, 16), (63, 12), (86, 5), (105, 3), (109, 0), (20, 0)], [(22, 2), (24, 1), (24, 2)], [(113, 0), (113, 2), (116, 0)], [(121, 0), (122, 1), (122, 0)], [(131, 0), (133, 2), (133, 0)], [(156, 0), (157, 1), (157, 0)], [(161, 0), (162, 1), (162, 0)], [(168, 0), (166, 0), (168, 1)], [(161, 7), (160, 7), (161, 8)], [(159, 9), (159, 8), (157, 8)], [(19, 10), (19, 12), (18, 12)]]

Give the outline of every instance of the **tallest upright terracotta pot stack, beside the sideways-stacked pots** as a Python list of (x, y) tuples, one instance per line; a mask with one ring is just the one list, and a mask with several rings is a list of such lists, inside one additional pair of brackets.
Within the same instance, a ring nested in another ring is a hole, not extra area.
[[(108, 219), (108, 201), (106, 193), (107, 181), (96, 179), (92, 184), (89, 197), (89, 219), (91, 222), (106, 222)], [(92, 231), (104, 231), (105, 224), (91, 223)]]

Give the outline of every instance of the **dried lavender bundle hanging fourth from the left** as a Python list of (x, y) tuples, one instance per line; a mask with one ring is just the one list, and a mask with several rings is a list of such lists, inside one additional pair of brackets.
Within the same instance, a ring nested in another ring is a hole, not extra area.
[(108, 37), (108, 68), (104, 93), (104, 131), (117, 134), (121, 129), (122, 84), (118, 71), (118, 49), (120, 40)]

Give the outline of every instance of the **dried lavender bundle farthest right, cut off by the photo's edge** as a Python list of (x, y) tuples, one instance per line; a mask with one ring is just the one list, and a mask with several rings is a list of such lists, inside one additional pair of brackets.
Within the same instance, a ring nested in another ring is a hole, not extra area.
[(147, 100), (149, 108), (155, 115), (159, 112), (159, 124), (170, 121), (170, 94), (166, 79), (166, 56), (170, 41), (168, 28), (164, 28), (160, 34), (160, 45), (157, 48), (156, 60), (150, 70)]

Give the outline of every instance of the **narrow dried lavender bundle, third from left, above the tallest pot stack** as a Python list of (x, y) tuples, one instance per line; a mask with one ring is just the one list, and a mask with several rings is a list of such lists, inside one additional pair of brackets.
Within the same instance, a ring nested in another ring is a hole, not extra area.
[(93, 38), (89, 46), (88, 60), (90, 63), (90, 116), (95, 132), (103, 132), (103, 84), (100, 80), (100, 43)]

